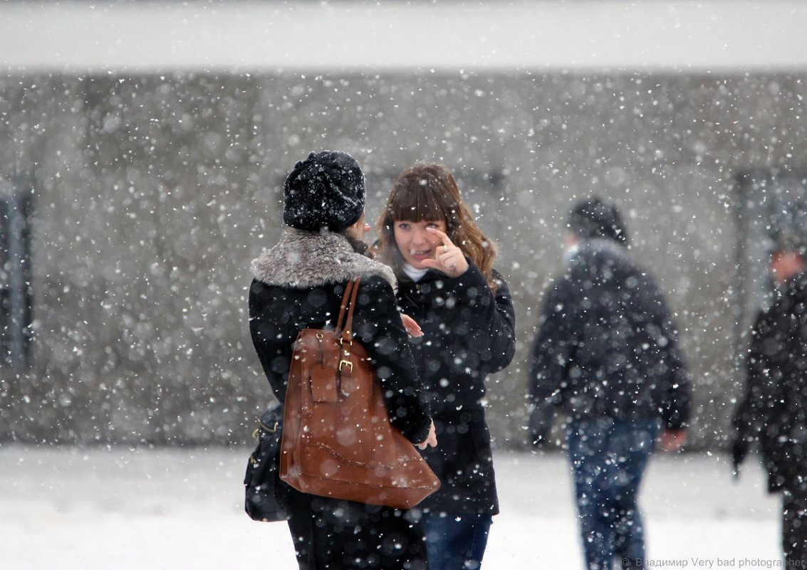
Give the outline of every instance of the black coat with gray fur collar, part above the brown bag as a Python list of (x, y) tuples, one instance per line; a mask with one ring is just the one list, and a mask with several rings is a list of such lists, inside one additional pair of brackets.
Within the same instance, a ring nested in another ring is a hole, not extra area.
[(279, 401), (286, 398), (292, 343), (303, 328), (335, 327), (347, 282), (362, 277), (353, 331), (384, 386), (391, 422), (412, 443), (429, 435), (429, 406), (395, 307), (391, 269), (358, 253), (341, 235), (286, 231), (253, 261), (249, 330)]

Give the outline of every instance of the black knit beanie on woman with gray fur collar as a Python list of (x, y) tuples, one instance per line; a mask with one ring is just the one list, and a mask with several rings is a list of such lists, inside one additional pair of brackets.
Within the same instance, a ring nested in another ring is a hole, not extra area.
[(364, 211), (364, 174), (345, 152), (312, 152), (283, 187), (283, 223), (306, 231), (343, 231)]

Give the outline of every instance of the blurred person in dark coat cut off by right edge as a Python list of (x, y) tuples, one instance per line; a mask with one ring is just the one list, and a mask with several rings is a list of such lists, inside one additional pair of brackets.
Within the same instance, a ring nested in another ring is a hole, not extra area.
[(807, 568), (807, 238), (776, 239), (771, 307), (751, 335), (745, 397), (734, 414), (734, 473), (759, 443), (768, 490), (783, 493), (782, 547), (788, 568)]

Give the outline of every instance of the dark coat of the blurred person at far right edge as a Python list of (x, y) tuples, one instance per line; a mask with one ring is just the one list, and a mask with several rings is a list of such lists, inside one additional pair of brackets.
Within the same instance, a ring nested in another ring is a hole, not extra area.
[(735, 464), (759, 442), (768, 489), (807, 489), (807, 273), (785, 281), (759, 314), (747, 359), (746, 393), (734, 414)]

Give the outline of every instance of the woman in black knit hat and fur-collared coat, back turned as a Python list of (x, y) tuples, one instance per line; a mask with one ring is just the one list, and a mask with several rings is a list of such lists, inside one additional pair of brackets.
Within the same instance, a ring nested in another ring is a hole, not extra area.
[[(345, 285), (362, 277), (353, 329), (383, 383), (393, 425), (420, 447), (436, 445), (429, 405), (395, 306), (395, 275), (363, 255), (364, 176), (344, 152), (312, 152), (286, 179), (279, 242), (253, 260), (249, 330), (278, 401), (286, 397), (292, 343), (303, 328), (333, 326)], [(299, 568), (424, 570), (414, 510), (299, 493), (285, 483)]]

